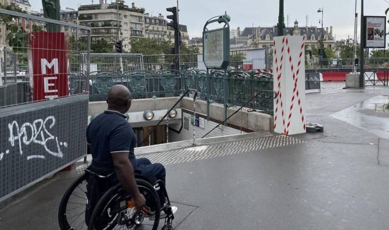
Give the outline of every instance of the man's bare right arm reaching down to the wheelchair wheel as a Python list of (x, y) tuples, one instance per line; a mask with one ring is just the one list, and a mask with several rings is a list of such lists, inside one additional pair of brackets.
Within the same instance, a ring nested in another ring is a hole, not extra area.
[(140, 210), (146, 199), (139, 192), (138, 186), (135, 182), (134, 169), (128, 159), (128, 152), (114, 152), (112, 153), (113, 165), (116, 169), (116, 175), (120, 183), (130, 193), (133, 204), (137, 210)]

